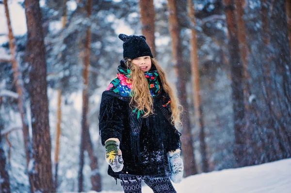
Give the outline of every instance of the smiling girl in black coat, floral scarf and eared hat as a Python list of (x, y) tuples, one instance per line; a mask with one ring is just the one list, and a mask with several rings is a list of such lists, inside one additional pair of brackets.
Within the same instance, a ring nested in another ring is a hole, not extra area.
[(124, 59), (102, 94), (99, 115), (108, 174), (125, 193), (141, 193), (141, 180), (154, 193), (176, 193), (170, 178), (179, 183), (183, 176), (178, 101), (146, 37), (118, 37)]

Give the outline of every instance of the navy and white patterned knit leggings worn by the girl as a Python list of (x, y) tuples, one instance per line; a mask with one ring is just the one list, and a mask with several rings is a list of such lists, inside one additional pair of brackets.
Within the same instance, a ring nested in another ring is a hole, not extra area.
[(120, 174), (121, 185), (125, 193), (142, 193), (142, 180), (145, 181), (154, 193), (177, 193), (170, 178), (151, 179), (143, 176)]

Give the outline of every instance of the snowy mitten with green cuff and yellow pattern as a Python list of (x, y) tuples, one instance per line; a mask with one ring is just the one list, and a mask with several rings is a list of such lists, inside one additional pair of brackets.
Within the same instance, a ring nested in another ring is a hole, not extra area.
[(117, 138), (110, 138), (105, 141), (105, 159), (113, 172), (120, 172), (123, 169), (123, 159), (119, 144), (120, 142)]

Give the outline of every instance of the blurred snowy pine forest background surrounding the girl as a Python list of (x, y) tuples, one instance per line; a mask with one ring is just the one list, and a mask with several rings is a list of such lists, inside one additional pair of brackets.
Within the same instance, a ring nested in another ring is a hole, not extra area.
[(178, 193), (290, 190), (291, 0), (0, 0), (0, 193), (122, 191), (98, 130), (119, 33), (183, 106)]

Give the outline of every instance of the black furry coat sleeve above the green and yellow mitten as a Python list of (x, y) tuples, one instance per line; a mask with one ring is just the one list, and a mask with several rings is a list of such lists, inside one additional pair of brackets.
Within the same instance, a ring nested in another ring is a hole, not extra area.
[(99, 113), (99, 133), (101, 143), (104, 146), (109, 138), (117, 138), (122, 141), (122, 132), (124, 130), (124, 119), (127, 110), (124, 108), (124, 102), (116, 97), (107, 97), (104, 100), (102, 96)]

